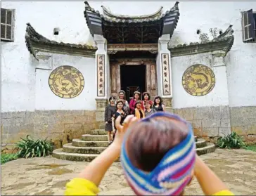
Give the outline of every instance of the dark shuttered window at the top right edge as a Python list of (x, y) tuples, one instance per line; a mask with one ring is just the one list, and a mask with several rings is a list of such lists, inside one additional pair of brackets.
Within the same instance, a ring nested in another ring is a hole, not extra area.
[(242, 13), (243, 42), (256, 41), (256, 13), (250, 9)]

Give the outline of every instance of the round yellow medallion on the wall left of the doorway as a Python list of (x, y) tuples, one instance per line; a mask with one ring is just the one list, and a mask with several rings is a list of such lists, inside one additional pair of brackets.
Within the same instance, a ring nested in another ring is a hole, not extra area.
[(60, 66), (51, 72), (49, 86), (60, 98), (75, 98), (84, 89), (84, 77), (72, 66)]

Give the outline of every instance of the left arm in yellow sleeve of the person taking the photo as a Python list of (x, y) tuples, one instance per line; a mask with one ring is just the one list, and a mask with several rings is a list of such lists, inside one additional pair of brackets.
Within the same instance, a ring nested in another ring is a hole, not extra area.
[(120, 156), (122, 141), (124, 133), (126, 132), (129, 124), (136, 122), (133, 115), (127, 116), (124, 119), (124, 126), (120, 124), (121, 117), (117, 117), (116, 126), (117, 134), (113, 143), (101, 152), (88, 166), (72, 181), (67, 183), (65, 195), (96, 195), (98, 193), (98, 185), (101, 183), (105, 172)]

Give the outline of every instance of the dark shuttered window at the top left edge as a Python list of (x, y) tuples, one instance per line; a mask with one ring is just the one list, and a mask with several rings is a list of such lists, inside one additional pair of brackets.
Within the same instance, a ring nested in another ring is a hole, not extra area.
[(14, 41), (15, 10), (1, 8), (1, 41)]

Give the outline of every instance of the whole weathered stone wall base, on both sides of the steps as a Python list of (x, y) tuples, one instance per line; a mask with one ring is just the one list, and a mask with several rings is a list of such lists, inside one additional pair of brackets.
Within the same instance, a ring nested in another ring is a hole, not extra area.
[[(191, 122), (196, 136), (215, 142), (236, 131), (245, 141), (256, 141), (256, 107), (187, 107), (169, 109)], [(49, 138), (56, 148), (81, 138), (93, 129), (104, 129), (101, 110), (36, 110), (1, 113), (1, 151), (13, 149), (20, 137)]]

